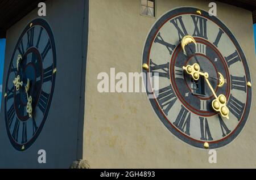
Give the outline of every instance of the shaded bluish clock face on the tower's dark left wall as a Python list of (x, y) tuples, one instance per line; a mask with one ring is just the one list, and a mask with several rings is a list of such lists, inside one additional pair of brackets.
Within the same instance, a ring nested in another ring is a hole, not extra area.
[(56, 76), (53, 33), (43, 19), (28, 23), (11, 57), (5, 87), (5, 121), (18, 151), (29, 148), (42, 131)]

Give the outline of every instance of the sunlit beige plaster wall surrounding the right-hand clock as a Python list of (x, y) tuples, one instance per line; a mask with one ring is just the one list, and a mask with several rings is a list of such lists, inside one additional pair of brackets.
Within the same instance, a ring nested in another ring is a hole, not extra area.
[[(208, 10), (210, 1), (156, 0), (156, 18), (140, 15), (141, 0), (90, 0), (86, 67), (84, 158), (91, 168), (256, 168), (255, 93), (250, 117), (236, 140), (208, 151), (175, 138), (152, 110), (146, 93), (99, 93), (99, 72), (141, 72), (147, 33), (179, 6)], [(251, 12), (217, 2), (217, 16), (237, 37), (256, 82)]]

